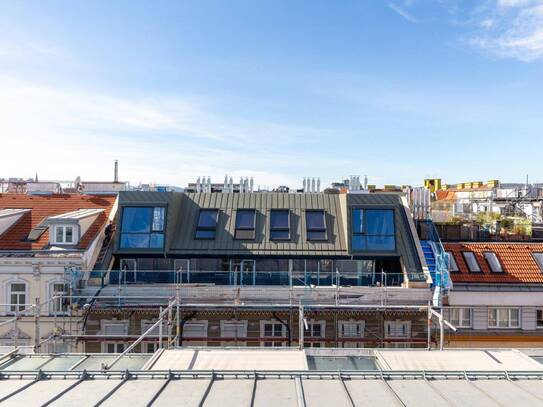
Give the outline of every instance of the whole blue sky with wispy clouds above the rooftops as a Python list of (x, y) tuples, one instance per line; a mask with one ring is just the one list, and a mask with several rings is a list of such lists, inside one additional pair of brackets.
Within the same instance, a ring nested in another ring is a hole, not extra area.
[(543, 0), (0, 0), (0, 177), (543, 181)]

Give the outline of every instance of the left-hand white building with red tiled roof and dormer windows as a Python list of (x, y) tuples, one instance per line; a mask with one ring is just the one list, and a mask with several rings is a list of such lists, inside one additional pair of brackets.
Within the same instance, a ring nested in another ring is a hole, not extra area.
[(115, 196), (0, 194), (0, 345), (76, 350), (50, 338), (79, 332), (71, 295), (115, 208)]

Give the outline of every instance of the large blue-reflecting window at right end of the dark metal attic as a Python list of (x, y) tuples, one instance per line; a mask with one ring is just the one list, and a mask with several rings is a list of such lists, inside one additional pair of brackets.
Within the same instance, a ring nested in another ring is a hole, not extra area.
[(394, 251), (396, 250), (394, 235), (394, 210), (353, 209), (353, 251)]

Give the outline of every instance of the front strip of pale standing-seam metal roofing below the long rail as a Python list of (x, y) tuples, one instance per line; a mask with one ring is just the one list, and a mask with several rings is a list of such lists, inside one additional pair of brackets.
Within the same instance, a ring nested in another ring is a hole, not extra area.
[(0, 401), (20, 405), (540, 406), (541, 373), (88, 372), (0, 379)]

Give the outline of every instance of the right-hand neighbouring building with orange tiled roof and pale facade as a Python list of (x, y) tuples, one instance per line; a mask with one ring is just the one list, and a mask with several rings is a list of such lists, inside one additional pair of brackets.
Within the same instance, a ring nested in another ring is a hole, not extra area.
[(543, 345), (543, 244), (445, 243), (454, 290), (446, 318), (450, 347)]

